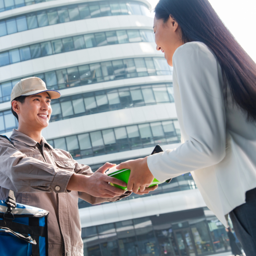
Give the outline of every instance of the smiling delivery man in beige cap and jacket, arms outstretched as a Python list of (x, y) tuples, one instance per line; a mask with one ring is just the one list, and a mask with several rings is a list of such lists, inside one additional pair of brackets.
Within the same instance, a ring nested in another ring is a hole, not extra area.
[(5, 200), (11, 189), (17, 203), (49, 212), (49, 256), (82, 256), (78, 198), (98, 204), (120, 200), (131, 192), (109, 185), (126, 186), (105, 174), (114, 164), (107, 162), (93, 173), (42, 137), (52, 113), (51, 99), (59, 97), (58, 91), (47, 90), (44, 81), (36, 77), (22, 79), (12, 89), (12, 113), (18, 119), (18, 129), (10, 137), (14, 145), (0, 137), (0, 199)]

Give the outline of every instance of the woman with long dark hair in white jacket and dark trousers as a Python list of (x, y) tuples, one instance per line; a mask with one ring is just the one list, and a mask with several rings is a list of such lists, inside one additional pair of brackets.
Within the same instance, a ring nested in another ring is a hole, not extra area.
[(230, 215), (255, 256), (256, 64), (207, 0), (160, 0), (153, 29), (173, 66), (182, 144), (117, 167), (131, 170), (134, 192), (191, 172), (208, 208), (225, 226)]

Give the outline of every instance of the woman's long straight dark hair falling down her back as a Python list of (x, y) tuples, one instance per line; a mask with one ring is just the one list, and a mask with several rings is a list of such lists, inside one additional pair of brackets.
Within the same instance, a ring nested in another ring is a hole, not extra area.
[(160, 0), (156, 19), (169, 16), (181, 28), (183, 43), (205, 43), (217, 57), (224, 78), (224, 97), (229, 85), (232, 99), (256, 121), (256, 64), (225, 27), (207, 0)]

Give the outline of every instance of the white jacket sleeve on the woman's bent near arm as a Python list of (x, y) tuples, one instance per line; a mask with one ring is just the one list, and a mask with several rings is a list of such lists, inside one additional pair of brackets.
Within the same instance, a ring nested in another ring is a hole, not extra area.
[(175, 96), (181, 103), (178, 121), (186, 141), (148, 157), (148, 167), (159, 181), (215, 165), (225, 157), (226, 117), (217, 59), (206, 46), (192, 42), (176, 50), (173, 66)]

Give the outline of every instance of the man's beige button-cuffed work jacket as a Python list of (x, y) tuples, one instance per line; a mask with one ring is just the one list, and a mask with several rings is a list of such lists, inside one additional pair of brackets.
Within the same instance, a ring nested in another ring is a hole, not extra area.
[(78, 164), (65, 150), (54, 149), (42, 137), (42, 146), (13, 130), (14, 145), (0, 137), (0, 199), (13, 190), (16, 202), (49, 212), (49, 256), (82, 256), (78, 198), (91, 204), (113, 202), (126, 197), (99, 198), (84, 192), (67, 191), (72, 174), (92, 175), (91, 168)]

